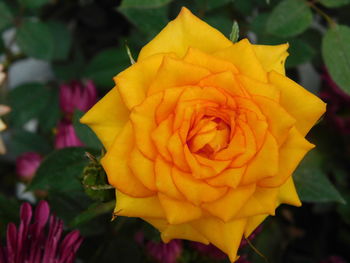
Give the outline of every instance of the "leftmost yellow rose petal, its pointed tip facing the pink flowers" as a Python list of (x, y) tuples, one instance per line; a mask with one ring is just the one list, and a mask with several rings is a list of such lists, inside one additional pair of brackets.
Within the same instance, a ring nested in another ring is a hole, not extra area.
[(129, 110), (125, 107), (118, 89), (114, 87), (80, 119), (80, 122), (88, 125), (108, 150), (128, 118)]

